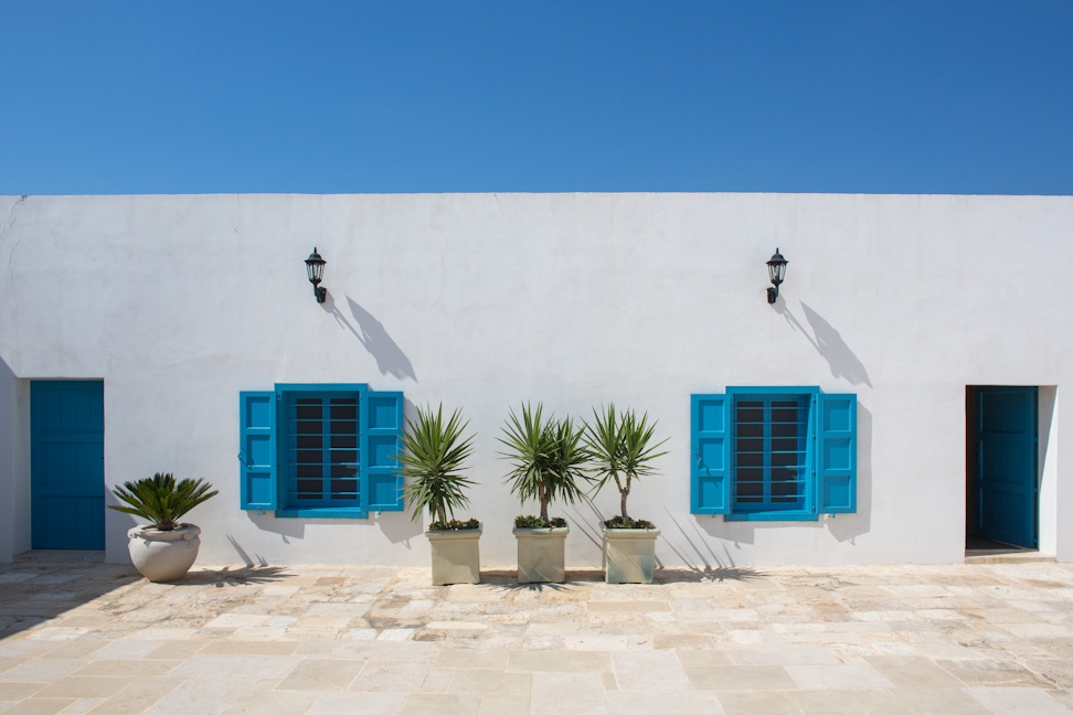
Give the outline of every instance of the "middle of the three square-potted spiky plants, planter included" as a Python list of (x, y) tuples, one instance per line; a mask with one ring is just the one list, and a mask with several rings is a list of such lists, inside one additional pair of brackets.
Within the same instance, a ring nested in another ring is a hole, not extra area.
[(510, 491), (524, 503), (535, 500), (540, 515), (518, 516), (514, 537), (518, 541), (518, 583), (556, 583), (566, 579), (566, 520), (550, 517), (548, 508), (555, 499), (573, 503), (584, 497), (578, 485), (587, 480), (584, 471), (586, 452), (582, 429), (566, 417), (546, 420), (543, 406), (532, 409), (522, 405), (521, 419), (511, 410), (502, 428), (500, 442), (507, 448), (501, 456), (511, 462), (506, 481)]

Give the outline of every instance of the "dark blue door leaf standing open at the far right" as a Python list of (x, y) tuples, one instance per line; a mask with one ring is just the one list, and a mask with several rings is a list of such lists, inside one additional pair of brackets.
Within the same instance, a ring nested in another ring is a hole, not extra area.
[(980, 387), (978, 392), (979, 533), (1007, 544), (1037, 547), (1035, 387)]

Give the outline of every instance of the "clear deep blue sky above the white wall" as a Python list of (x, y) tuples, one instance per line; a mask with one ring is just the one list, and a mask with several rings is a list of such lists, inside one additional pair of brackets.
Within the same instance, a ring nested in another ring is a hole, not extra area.
[(1073, 2), (2, 6), (0, 194), (1073, 194)]

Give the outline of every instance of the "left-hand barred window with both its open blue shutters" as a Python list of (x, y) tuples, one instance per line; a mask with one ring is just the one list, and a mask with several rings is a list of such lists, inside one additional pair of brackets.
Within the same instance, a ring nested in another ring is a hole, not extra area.
[(277, 516), (401, 511), (402, 393), (276, 385), (240, 394), (242, 508)]

